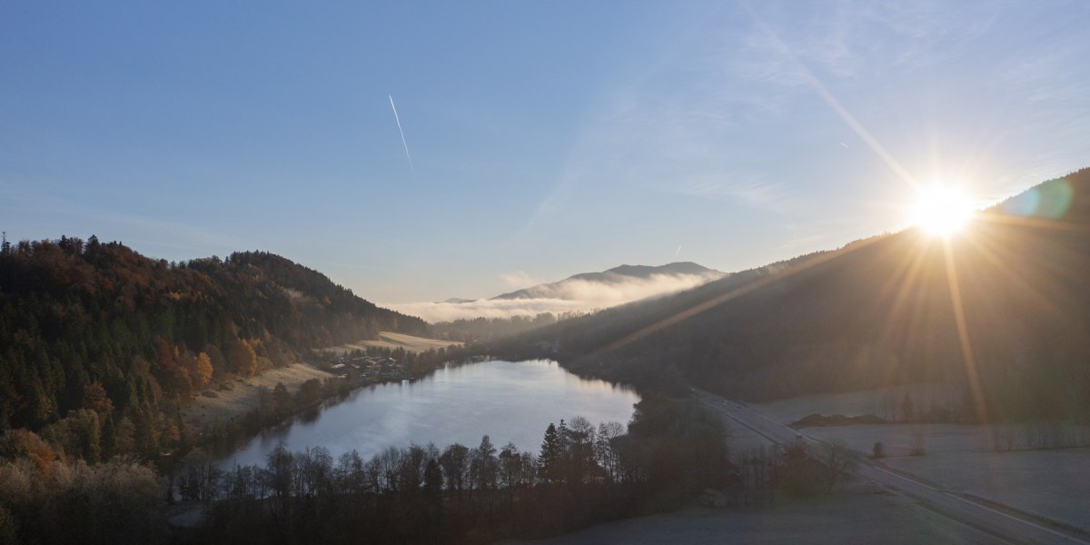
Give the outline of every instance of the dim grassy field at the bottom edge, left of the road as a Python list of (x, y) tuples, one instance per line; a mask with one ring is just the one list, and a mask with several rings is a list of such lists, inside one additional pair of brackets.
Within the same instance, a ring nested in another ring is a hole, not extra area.
[(888, 494), (837, 494), (766, 509), (689, 508), (533, 544), (984, 544), (995, 537)]

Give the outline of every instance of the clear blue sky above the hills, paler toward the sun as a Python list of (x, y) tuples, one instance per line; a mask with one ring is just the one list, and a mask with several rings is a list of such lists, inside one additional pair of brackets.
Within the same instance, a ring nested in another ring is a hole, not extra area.
[(0, 229), (266, 250), (378, 302), (739, 270), (900, 229), (935, 180), (985, 203), (1090, 166), (1088, 27), (1085, 1), (3, 1)]

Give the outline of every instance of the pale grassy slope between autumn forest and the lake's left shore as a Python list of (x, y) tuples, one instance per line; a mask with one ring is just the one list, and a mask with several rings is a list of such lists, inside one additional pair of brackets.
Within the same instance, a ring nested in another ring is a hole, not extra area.
[[(305, 363), (296, 363), (287, 367), (271, 368), (250, 378), (232, 377), (217, 380), (207, 388), (215, 392), (216, 397), (207, 398), (198, 393), (193, 403), (182, 410), (182, 416), (198, 426), (217, 419), (225, 422), (231, 417), (240, 417), (257, 407), (257, 390), (262, 386), (271, 390), (277, 383), (283, 383), (288, 391), (294, 393), (299, 385), (312, 378), (324, 380), (331, 376)], [(230, 384), (233, 389), (220, 389), (219, 385), (223, 383)]]

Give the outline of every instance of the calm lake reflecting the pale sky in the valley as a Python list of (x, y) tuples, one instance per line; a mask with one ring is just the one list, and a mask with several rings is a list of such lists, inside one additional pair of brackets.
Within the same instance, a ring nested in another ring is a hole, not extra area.
[(595, 425), (627, 424), (639, 400), (628, 388), (580, 378), (552, 361), (471, 363), (412, 383), (356, 389), (320, 409), (317, 417), (263, 433), (219, 465), (264, 464), (281, 440), (293, 451), (323, 446), (336, 459), (356, 449), (368, 459), (410, 443), (431, 441), (440, 450), (452, 443), (475, 447), (487, 434), (497, 449), (513, 441), (520, 450), (537, 452), (550, 422), (580, 415)]

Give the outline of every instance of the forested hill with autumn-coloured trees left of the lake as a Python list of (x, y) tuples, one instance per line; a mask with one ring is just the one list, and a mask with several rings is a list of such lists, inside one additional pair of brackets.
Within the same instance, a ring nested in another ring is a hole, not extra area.
[(155, 420), (160, 399), (214, 374), (252, 375), (379, 330), (426, 325), (268, 253), (167, 263), (95, 237), (5, 242), (0, 432), (81, 409)]

